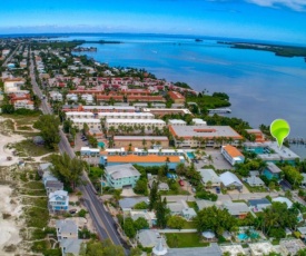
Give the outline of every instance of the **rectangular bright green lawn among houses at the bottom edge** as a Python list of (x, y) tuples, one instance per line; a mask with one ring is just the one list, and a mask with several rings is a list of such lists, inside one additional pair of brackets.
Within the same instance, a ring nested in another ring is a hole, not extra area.
[(198, 233), (165, 234), (170, 248), (205, 247), (209, 243), (204, 242)]

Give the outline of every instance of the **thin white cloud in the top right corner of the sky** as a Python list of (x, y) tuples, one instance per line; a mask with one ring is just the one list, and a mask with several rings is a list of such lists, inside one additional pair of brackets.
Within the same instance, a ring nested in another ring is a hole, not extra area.
[(306, 0), (246, 0), (258, 4), (260, 7), (273, 7), (277, 8), (279, 6), (285, 6), (295, 11), (306, 11)]

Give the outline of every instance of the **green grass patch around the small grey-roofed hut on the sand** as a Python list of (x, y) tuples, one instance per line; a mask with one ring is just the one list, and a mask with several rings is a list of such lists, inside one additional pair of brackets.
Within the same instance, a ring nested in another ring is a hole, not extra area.
[(45, 148), (43, 146), (34, 145), (31, 139), (26, 139), (13, 145), (20, 157), (39, 157), (49, 152), (55, 152), (53, 149)]

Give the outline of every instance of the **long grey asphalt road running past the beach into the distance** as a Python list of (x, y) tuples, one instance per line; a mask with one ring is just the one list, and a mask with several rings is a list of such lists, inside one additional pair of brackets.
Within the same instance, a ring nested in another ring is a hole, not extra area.
[[(30, 77), (31, 77), (31, 83), (33, 87), (33, 92), (41, 99), (42, 92), (36, 81), (34, 66), (33, 66), (32, 58), (30, 60), (30, 63), (31, 63)], [(41, 109), (45, 115), (52, 114), (52, 110), (46, 99), (41, 100)], [(59, 135), (60, 135), (60, 142), (59, 142), (60, 152), (67, 152), (70, 156), (70, 158), (75, 158), (76, 154), (71, 149), (63, 131), (60, 130)], [(109, 238), (115, 245), (127, 247), (124, 244), (124, 242), (120, 239), (120, 236), (116, 230), (117, 227), (113, 218), (105, 209), (103, 204), (98, 199), (96, 191), (85, 173), (81, 176), (81, 179), (83, 185), (80, 185), (79, 189), (82, 193), (85, 206), (87, 207), (89, 215), (92, 218), (93, 225), (96, 227), (96, 232), (98, 233), (100, 239)], [(127, 250), (126, 250), (126, 254), (127, 254)]]

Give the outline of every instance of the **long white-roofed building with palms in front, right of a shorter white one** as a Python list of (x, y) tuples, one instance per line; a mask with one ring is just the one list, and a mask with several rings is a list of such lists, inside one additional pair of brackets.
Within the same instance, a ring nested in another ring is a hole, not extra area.
[[(105, 127), (107, 130), (111, 129), (118, 129), (119, 127), (131, 127), (135, 129), (135, 127), (144, 127), (145, 132), (154, 131), (155, 129), (161, 130), (166, 122), (159, 119), (107, 119), (105, 122)], [(135, 132), (139, 132), (140, 129), (135, 130)]]

